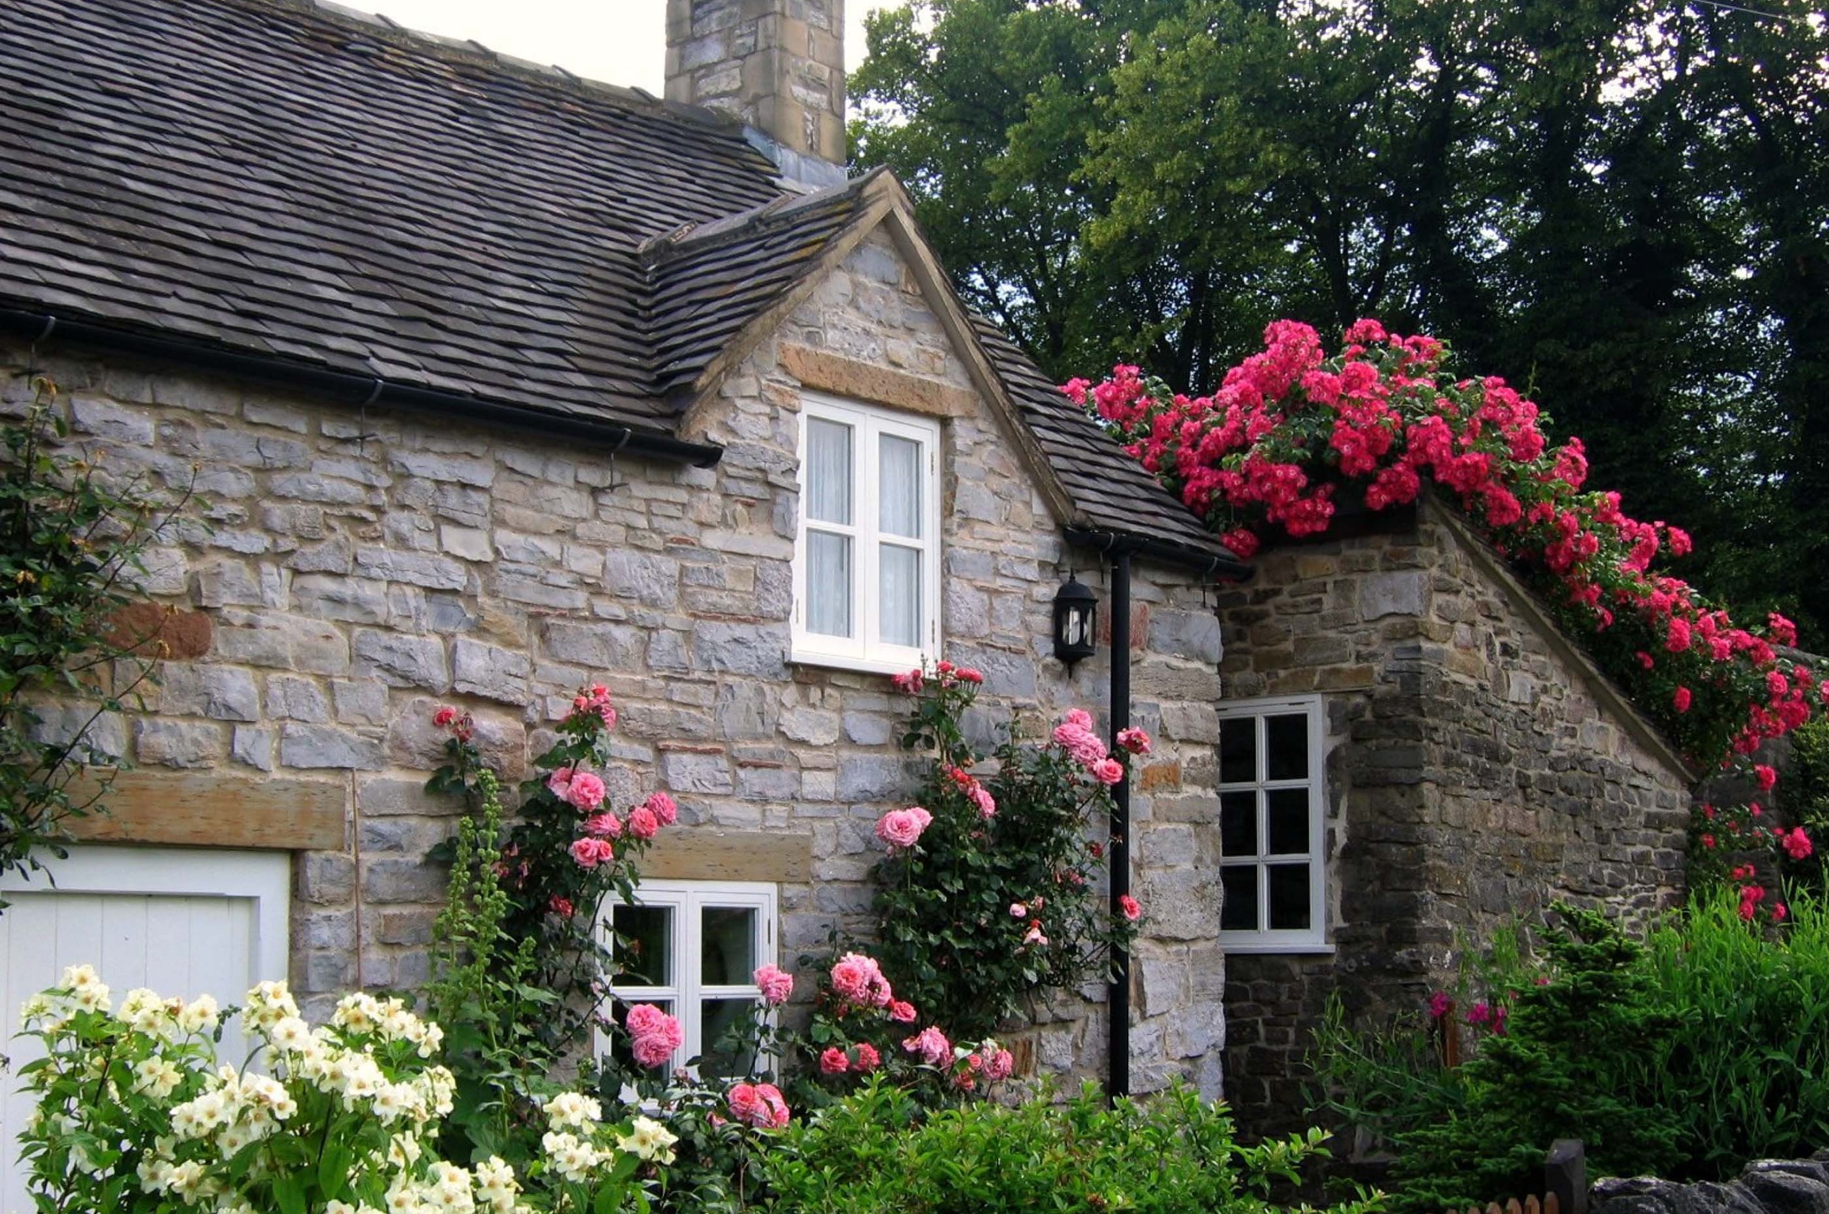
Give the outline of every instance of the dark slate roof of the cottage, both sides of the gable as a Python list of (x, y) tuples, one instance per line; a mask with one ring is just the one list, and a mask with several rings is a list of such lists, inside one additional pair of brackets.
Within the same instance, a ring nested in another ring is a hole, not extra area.
[[(869, 183), (309, 0), (9, 0), (0, 113), (0, 311), (662, 435)], [(975, 324), (1075, 523), (1220, 550)]]

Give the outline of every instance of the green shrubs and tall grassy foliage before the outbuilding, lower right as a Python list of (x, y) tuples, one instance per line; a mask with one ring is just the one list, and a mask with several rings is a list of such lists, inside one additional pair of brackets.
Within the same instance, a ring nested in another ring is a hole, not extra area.
[(1423, 1017), (1350, 1029), (1337, 1009), (1311, 1064), (1321, 1104), (1394, 1152), (1394, 1205), (1439, 1210), (1536, 1187), (1578, 1137), (1600, 1176), (1725, 1179), (1829, 1141), (1829, 912), (1794, 896), (1783, 929), (1730, 890), (1626, 940), (1556, 907), (1546, 964), (1456, 1070)]

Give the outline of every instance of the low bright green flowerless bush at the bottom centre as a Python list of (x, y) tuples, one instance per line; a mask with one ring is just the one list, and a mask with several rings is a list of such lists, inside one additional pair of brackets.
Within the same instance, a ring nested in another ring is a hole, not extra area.
[(1319, 1130), (1238, 1146), (1224, 1106), (1185, 1088), (1108, 1108), (1088, 1084), (1064, 1104), (977, 1102), (924, 1121), (909, 1093), (871, 1082), (788, 1128), (763, 1165), (779, 1210), (1249, 1214), (1321, 1154)]

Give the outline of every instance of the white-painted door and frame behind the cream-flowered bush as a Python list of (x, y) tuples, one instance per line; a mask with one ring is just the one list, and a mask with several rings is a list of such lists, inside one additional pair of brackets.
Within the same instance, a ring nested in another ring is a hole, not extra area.
[[(0, 1051), (11, 1060), (0, 1102), (0, 1210), (31, 1209), (13, 1150), (31, 1099), (16, 1092), (15, 1075), (40, 1049), (37, 1040), (13, 1038), (18, 1009), (66, 965), (95, 965), (117, 1007), (139, 985), (240, 1004), (256, 982), (285, 978), (287, 852), (84, 847), (48, 865), (55, 887), (42, 872), (0, 881), (11, 903), (0, 910), (7, 1038)], [(247, 1049), (225, 1035), (221, 1053), (240, 1064)]]

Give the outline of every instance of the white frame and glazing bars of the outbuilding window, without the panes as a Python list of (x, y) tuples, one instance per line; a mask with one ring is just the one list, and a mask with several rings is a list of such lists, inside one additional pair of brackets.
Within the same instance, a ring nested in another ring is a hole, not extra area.
[[(1227, 856), (1220, 852), (1222, 874), (1225, 868), (1244, 868), (1255, 867), (1258, 872), (1257, 879), (1257, 921), (1266, 923), (1258, 929), (1220, 929), (1220, 945), (1227, 953), (1333, 953), (1333, 945), (1328, 942), (1328, 854), (1326, 854), (1326, 753), (1324, 742), (1326, 735), (1322, 731), (1322, 711), (1319, 695), (1297, 695), (1297, 697), (1260, 697), (1249, 700), (1231, 700), (1220, 702), (1220, 733), (1233, 720), (1251, 720), (1257, 729), (1255, 742), (1255, 775), (1251, 781), (1222, 781), (1218, 770), (1218, 755), (1214, 755), (1214, 792), (1216, 795), (1229, 792), (1251, 792), (1257, 795), (1257, 839), (1258, 850), (1251, 856)], [(1266, 737), (1266, 719), (1269, 717), (1293, 717), (1304, 715), (1308, 719), (1308, 773), (1300, 779), (1269, 779), (1269, 748)], [(1302, 788), (1308, 792), (1308, 850), (1306, 852), (1267, 852), (1269, 847), (1269, 812), (1266, 806), (1266, 792)], [(1222, 803), (1224, 804), (1224, 803)], [(1271, 863), (1291, 863), (1302, 857), (1308, 861), (1308, 927), (1306, 929), (1271, 929), (1269, 923), (1269, 874), (1267, 867)], [(1222, 885), (1224, 887), (1224, 885)], [(1224, 912), (1222, 912), (1224, 914)], [(1222, 920), (1224, 921), (1224, 920)]]

